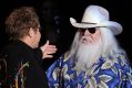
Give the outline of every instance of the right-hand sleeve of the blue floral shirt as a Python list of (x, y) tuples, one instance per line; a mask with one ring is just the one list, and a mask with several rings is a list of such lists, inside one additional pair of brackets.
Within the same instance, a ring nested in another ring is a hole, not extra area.
[(95, 73), (94, 79), (100, 87), (132, 88), (132, 68), (124, 55), (106, 58)]

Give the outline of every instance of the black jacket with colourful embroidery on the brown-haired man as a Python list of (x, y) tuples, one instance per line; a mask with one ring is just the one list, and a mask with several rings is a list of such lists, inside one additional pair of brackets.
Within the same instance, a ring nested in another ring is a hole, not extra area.
[(41, 67), (41, 50), (13, 41), (3, 48), (2, 54), (7, 55), (8, 88), (48, 88), (47, 75)]

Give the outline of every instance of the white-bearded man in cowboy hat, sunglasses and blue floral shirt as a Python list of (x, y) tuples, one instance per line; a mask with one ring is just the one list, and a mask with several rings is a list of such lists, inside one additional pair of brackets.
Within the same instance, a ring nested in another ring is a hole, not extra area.
[(50, 88), (132, 88), (132, 69), (114, 35), (122, 25), (100, 6), (89, 6), (71, 48), (47, 70)]

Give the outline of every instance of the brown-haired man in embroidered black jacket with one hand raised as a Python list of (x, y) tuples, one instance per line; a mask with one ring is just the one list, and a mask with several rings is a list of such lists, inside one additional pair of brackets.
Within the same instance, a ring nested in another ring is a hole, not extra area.
[(33, 7), (13, 10), (6, 20), (6, 32), (10, 42), (1, 53), (6, 55), (6, 77), (0, 88), (1, 84), (2, 88), (49, 88), (41, 64), (42, 59), (53, 57), (57, 47), (49, 41), (39, 46), (40, 22)]

